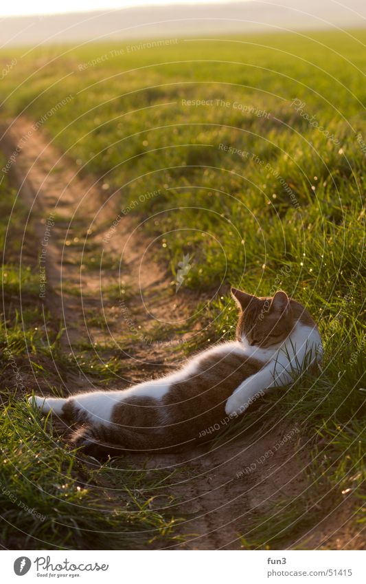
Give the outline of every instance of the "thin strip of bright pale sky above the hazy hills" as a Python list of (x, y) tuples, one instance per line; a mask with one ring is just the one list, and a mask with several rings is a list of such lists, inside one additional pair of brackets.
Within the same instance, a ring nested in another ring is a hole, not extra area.
[(25, 16), (27, 14), (60, 14), (62, 12), (82, 12), (89, 10), (111, 10), (134, 6), (166, 6), (168, 4), (208, 4), (228, 3), (233, 0), (16, 0), (0, 1), (0, 17)]

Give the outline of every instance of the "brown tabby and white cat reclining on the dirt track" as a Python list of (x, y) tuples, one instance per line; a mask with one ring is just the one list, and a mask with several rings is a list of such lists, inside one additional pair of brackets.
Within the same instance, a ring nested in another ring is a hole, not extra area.
[(231, 294), (240, 311), (236, 340), (197, 354), (170, 375), (129, 389), (65, 399), (32, 396), (30, 402), (79, 426), (73, 442), (95, 456), (101, 451), (165, 453), (194, 446), (211, 435), (209, 429), (243, 413), (264, 391), (288, 385), (304, 366), (321, 360), (316, 323), (286, 292), (258, 298), (232, 288)]

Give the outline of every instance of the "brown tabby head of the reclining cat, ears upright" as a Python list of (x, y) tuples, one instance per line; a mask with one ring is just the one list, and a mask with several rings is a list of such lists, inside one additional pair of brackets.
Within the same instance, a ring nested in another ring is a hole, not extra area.
[(279, 290), (273, 298), (258, 298), (242, 290), (231, 288), (231, 294), (240, 309), (237, 339), (258, 347), (278, 345), (295, 325), (290, 299)]

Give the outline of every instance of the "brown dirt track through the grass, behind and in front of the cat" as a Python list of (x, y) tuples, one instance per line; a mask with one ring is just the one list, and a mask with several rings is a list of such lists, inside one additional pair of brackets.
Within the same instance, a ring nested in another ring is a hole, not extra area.
[[(62, 350), (73, 354), (80, 344), (93, 344), (104, 351), (102, 363), (117, 344), (123, 371), (109, 386), (113, 389), (167, 371), (183, 354), (172, 351), (174, 336), (163, 344), (154, 342), (154, 334), (157, 326), (174, 321), (177, 299), (152, 257), (150, 240), (128, 215), (113, 229), (119, 213), (108, 185), (82, 179), (78, 167), (31, 126), (25, 118), (13, 120), (1, 147), (9, 157), (31, 133), (12, 172), (36, 220), (40, 255), (45, 250), (45, 307), (62, 321)], [(189, 318), (194, 306), (194, 297), (182, 292), (179, 318)], [(100, 358), (100, 351), (95, 355)], [(60, 376), (70, 393), (94, 385), (82, 371), (78, 376), (61, 371)], [(290, 442), (258, 462), (286, 430), (268, 429), (260, 438), (247, 436), (212, 451), (150, 457), (148, 468), (175, 471), (170, 484), (157, 490), (157, 495), (173, 495), (174, 515), (186, 518), (176, 528), (186, 541), (175, 547), (240, 548), (238, 534), (247, 531), (253, 514), (271, 511), (275, 497), (293, 492), (295, 484), (301, 489), (300, 465)], [(133, 457), (137, 466), (144, 462), (145, 457)]]

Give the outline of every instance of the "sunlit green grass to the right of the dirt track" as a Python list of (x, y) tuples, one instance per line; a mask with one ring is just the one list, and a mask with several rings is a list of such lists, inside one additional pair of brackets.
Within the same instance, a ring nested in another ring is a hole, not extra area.
[[(297, 540), (329, 512), (324, 493), (335, 493), (332, 508), (343, 491), (355, 508), (365, 499), (365, 152), (357, 138), (366, 141), (365, 41), (365, 31), (190, 39), (123, 56), (111, 56), (120, 44), (47, 47), (19, 51), (1, 84), (7, 116), (40, 120), (71, 95), (43, 130), (80, 175), (98, 177), (106, 197), (119, 189), (119, 207), (144, 220), (172, 279), (190, 254), (183, 288), (212, 298), (207, 329), (187, 351), (233, 336), (229, 283), (258, 295), (284, 288), (319, 322), (321, 374), (268, 396), (259, 422), (249, 412), (220, 436), (295, 420), (312, 458), (306, 497), (280, 499), (268, 521), (256, 517), (244, 546)], [(93, 269), (98, 250), (87, 253)], [(14, 294), (16, 272), (7, 273)], [(33, 294), (32, 278), (22, 277)], [(282, 523), (271, 521), (278, 510)]]

